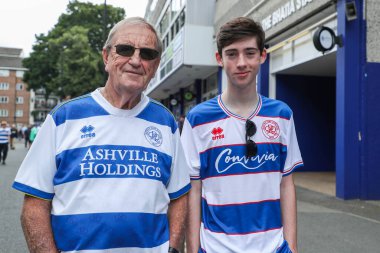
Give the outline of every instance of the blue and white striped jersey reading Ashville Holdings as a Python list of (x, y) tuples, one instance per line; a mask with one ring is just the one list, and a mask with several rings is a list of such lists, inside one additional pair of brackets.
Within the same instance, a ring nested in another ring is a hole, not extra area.
[(142, 95), (121, 110), (95, 90), (48, 115), (13, 187), (52, 201), (62, 252), (166, 253), (168, 204), (190, 179), (165, 107)]

